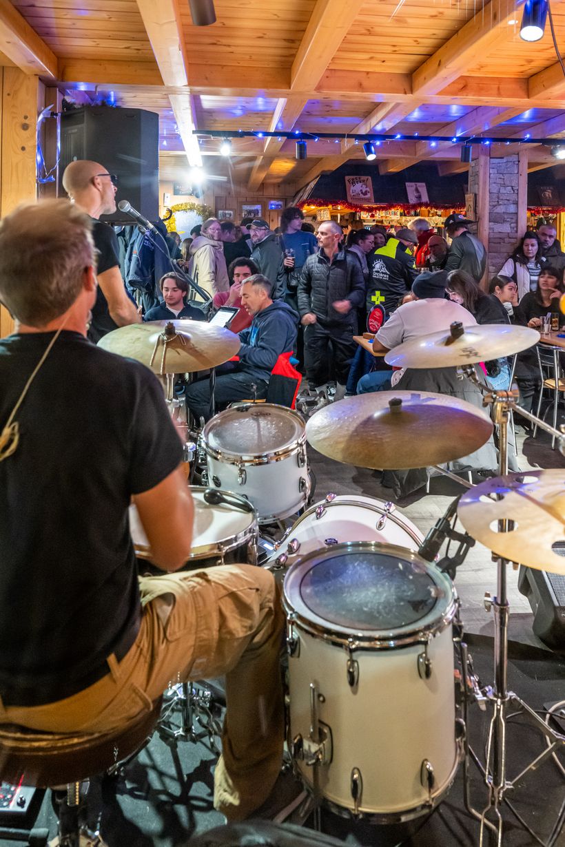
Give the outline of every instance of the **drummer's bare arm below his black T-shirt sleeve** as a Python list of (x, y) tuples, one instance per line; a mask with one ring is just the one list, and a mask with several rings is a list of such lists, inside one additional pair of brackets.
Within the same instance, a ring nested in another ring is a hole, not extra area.
[(152, 550), (163, 571), (178, 571), (191, 551), (194, 506), (181, 467), (154, 488), (134, 495), (134, 503)]

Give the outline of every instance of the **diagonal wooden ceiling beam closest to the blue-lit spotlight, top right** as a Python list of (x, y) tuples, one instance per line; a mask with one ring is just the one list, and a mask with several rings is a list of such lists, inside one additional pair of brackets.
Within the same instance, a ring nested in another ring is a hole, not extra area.
[(492, 0), (457, 30), (454, 36), (421, 64), (412, 75), (412, 93), (416, 97), (437, 94), (479, 55), (489, 55), (508, 38), (508, 21), (516, 14), (512, 0)]

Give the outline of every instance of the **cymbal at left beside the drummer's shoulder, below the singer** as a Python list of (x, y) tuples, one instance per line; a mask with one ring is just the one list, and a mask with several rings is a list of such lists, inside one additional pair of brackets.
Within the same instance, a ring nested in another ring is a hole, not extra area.
[[(169, 335), (165, 328), (171, 328)], [(123, 326), (104, 335), (98, 346), (136, 359), (154, 374), (191, 374), (227, 362), (241, 342), (229, 329), (181, 319)]]

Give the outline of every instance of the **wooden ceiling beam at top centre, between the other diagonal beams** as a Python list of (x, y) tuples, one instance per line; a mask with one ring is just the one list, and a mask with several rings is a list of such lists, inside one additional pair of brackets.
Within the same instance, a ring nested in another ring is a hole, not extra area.
[(360, 7), (359, 0), (316, 0), (292, 63), (292, 91), (308, 91), (316, 86), (352, 26), (355, 7)]

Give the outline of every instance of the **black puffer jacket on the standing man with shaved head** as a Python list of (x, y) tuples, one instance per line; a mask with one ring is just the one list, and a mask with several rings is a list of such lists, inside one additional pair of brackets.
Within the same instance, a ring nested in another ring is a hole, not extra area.
[[(357, 309), (363, 306), (365, 282), (357, 257), (345, 250), (335, 254), (332, 263), (323, 250), (308, 256), (298, 283), (300, 317), (312, 312), (324, 326), (357, 327)], [(345, 315), (336, 312), (332, 303), (349, 300), (352, 308)]]

